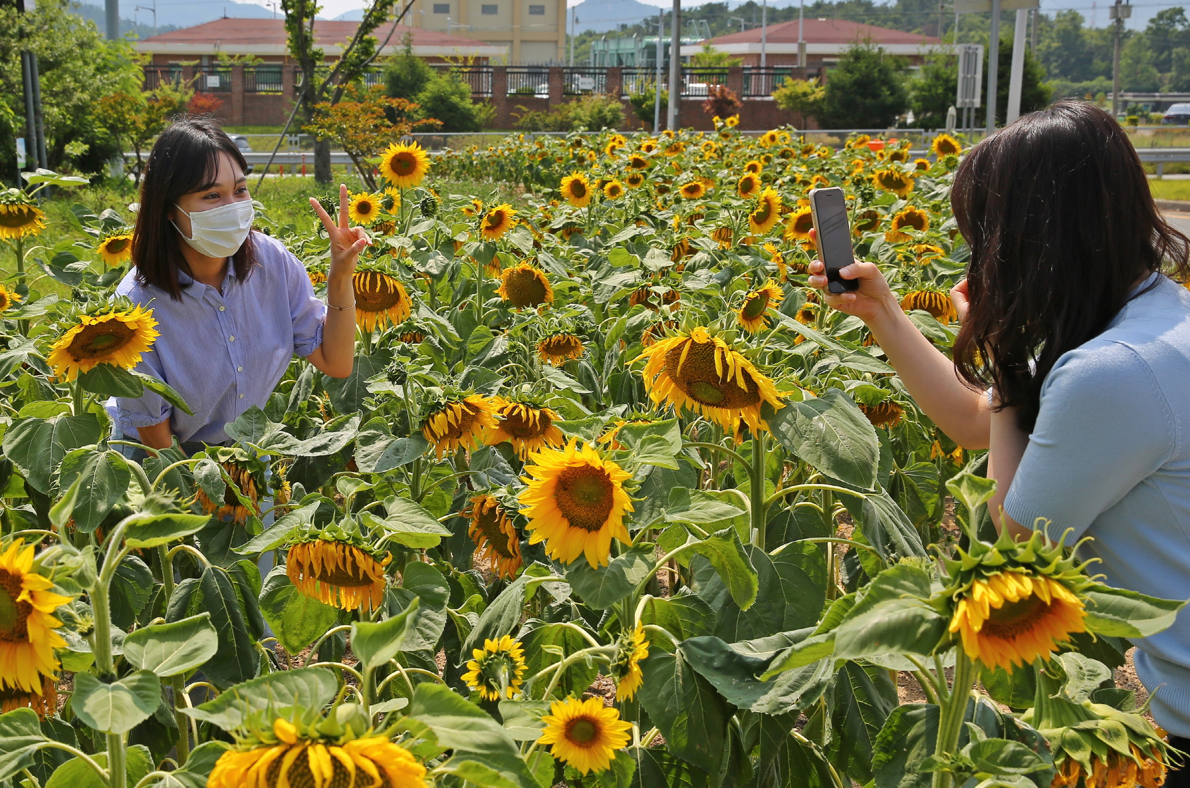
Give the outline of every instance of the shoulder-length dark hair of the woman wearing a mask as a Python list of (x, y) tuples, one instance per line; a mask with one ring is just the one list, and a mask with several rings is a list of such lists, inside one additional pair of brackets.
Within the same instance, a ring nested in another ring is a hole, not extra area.
[[(138, 282), (156, 284), (175, 301), (182, 299), (177, 271), (189, 275), (190, 267), (180, 248), (186, 242), (169, 220), (169, 211), (183, 194), (214, 185), (223, 154), (231, 156), (242, 173), (248, 173), (244, 155), (223, 129), (206, 118), (183, 115), (157, 138), (145, 164), (140, 211), (132, 236), (132, 264), (137, 267)], [(236, 279), (243, 282), (256, 265), (252, 233), (231, 259)]]

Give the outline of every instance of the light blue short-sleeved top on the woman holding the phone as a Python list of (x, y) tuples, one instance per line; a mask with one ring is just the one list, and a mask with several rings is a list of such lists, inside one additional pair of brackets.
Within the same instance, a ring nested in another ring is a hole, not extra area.
[[(1041, 409), (1004, 501), (1014, 520), (1052, 520), (1094, 542), (1117, 588), (1190, 599), (1190, 292), (1161, 275), (1098, 337), (1046, 375)], [(1150, 280), (1152, 282), (1152, 280)], [(1148, 284), (1150, 282), (1146, 282)], [(1138, 638), (1136, 675), (1153, 718), (1190, 737), (1190, 613)], [(1159, 687), (1159, 689), (1158, 689)]]

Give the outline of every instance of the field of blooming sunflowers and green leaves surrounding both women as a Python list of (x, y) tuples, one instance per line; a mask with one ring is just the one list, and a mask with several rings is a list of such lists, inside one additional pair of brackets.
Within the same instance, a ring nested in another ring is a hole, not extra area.
[[(346, 379), (129, 457), (131, 214), (0, 194), (0, 781), (1157, 788), (1116, 687), (1183, 602), (996, 536), (994, 482), (804, 286), (807, 193), (946, 350), (962, 142), (509, 137), (375, 162)], [(438, 179), (500, 181), (484, 205)], [(334, 200), (328, 201), (332, 206)], [(513, 205), (515, 202), (515, 205)], [(324, 287), (313, 214), (257, 229)], [(143, 448), (142, 448), (143, 449)]]

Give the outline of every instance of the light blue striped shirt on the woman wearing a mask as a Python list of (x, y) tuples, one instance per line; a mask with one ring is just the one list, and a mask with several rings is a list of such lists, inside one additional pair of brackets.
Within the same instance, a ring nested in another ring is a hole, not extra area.
[(257, 265), (244, 282), (231, 267), (223, 294), (178, 271), (182, 300), (143, 286), (130, 271), (115, 289), (154, 311), (161, 337), (137, 367), (173, 386), (194, 411), (161, 396), (117, 399), (120, 431), (170, 420), (180, 442), (227, 440), (224, 425), (253, 405), (264, 407), (294, 356), (322, 344), (326, 305), (314, 296), (306, 268), (278, 240), (253, 232)]

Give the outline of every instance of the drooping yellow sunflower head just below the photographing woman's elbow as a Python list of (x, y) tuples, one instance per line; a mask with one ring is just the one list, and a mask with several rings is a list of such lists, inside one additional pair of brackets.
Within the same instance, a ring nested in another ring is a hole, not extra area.
[(1086, 630), (1083, 600), (1045, 575), (1007, 570), (976, 579), (954, 608), (948, 630), (987, 668), (1032, 664)]

